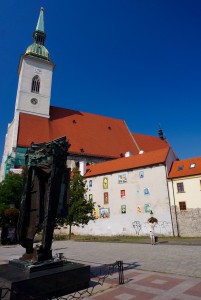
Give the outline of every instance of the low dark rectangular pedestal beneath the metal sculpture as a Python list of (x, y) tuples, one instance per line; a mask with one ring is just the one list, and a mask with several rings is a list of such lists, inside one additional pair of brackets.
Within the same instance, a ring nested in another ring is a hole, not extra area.
[[(18, 268), (17, 263), (0, 266), (1, 299), (28, 300), (64, 296), (89, 287), (90, 266), (63, 262), (43, 269)], [(6, 293), (6, 288), (8, 292)], [(6, 293), (6, 294), (5, 294)], [(5, 295), (4, 295), (5, 294)]]

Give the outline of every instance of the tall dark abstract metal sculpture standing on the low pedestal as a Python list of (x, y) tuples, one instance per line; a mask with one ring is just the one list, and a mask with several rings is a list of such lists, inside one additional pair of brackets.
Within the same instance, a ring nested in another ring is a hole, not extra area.
[(66, 217), (69, 170), (66, 167), (69, 143), (65, 137), (49, 143), (32, 144), (25, 159), (25, 185), (22, 194), (17, 236), (26, 248), (24, 259), (31, 260), (35, 234), (42, 230), (42, 242), (35, 259), (52, 259), (52, 239), (56, 217)]

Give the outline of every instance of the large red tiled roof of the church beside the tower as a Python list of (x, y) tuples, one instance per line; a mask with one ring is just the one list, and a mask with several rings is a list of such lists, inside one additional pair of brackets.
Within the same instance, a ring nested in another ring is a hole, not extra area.
[[(165, 140), (131, 134), (125, 121), (65, 108), (50, 107), (50, 118), (20, 113), (18, 146), (48, 142), (66, 136), (69, 153), (118, 158), (126, 152), (138, 154), (169, 147)], [(137, 142), (137, 143), (136, 143)]]

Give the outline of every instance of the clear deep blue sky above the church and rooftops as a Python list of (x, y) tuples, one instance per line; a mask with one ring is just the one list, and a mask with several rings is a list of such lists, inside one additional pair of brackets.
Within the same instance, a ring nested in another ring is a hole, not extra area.
[(52, 105), (124, 119), (136, 133), (156, 136), (160, 124), (180, 159), (201, 156), (197, 0), (0, 0), (0, 156), (41, 6)]

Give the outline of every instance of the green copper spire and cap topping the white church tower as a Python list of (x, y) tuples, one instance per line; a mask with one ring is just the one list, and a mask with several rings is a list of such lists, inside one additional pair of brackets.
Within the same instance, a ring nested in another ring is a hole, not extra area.
[(36, 30), (33, 33), (34, 43), (29, 46), (26, 50), (26, 55), (35, 56), (39, 59), (50, 60), (49, 52), (45, 48), (44, 43), (46, 39), (45, 29), (44, 29), (44, 8), (41, 7), (40, 15), (38, 18), (38, 23)]

